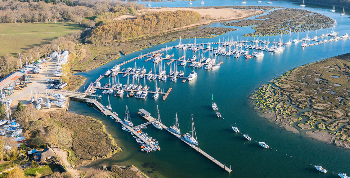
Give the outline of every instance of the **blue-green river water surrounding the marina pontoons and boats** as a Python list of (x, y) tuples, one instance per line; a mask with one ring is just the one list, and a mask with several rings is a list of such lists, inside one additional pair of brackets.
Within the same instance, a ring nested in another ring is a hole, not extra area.
[[(295, 7), (299, 8), (299, 3), (289, 1), (272, 1), (273, 6)], [(144, 2), (141, 2), (144, 3)], [(146, 3), (145, 3), (146, 4)], [(151, 2), (152, 7), (183, 7), (189, 6), (185, 1), (176, 0), (175, 2)], [(240, 1), (220, 0), (205, 1), (205, 6), (216, 5), (241, 5)], [(256, 1), (248, 0), (246, 5), (257, 5)], [(260, 5), (267, 5), (263, 1)], [(201, 6), (200, 1), (193, 1), (192, 6)], [(348, 15), (339, 16), (340, 8), (335, 13), (329, 12), (332, 5), (310, 6), (304, 9), (327, 15), (333, 19), (337, 19), (336, 31), (340, 34), (350, 33), (350, 18)], [(220, 23), (214, 23), (211, 27), (224, 27)], [(237, 28), (224, 35), (219, 35), (211, 39), (197, 39), (199, 42), (218, 42), (219, 38), (226, 38), (231, 35), (235, 38), (253, 30), (251, 27)], [(326, 30), (318, 30), (318, 35), (326, 33)], [(310, 31), (309, 36), (315, 35), (315, 31)], [(305, 33), (300, 33), (300, 37), (304, 37)], [(267, 37), (260, 37), (264, 39)], [(269, 37), (272, 41), (275, 37)], [(287, 41), (289, 35), (283, 35), (284, 41)], [(292, 39), (296, 38), (296, 34), (292, 34)], [(248, 38), (253, 39), (253, 38)], [(194, 42), (194, 39), (190, 39)], [(188, 39), (182, 40), (186, 43)], [(119, 59), (98, 67), (85, 73), (79, 73), (87, 78), (87, 86), (90, 81), (95, 81), (99, 74), (104, 73), (115, 64), (123, 60), (131, 59), (139, 56), (141, 53), (155, 51), (167, 46), (176, 45), (179, 40), (168, 42), (161, 45), (155, 45), (142, 51), (133, 52), (132, 54), (122, 56)], [(89, 166), (100, 167), (102, 165), (111, 165), (118, 163), (120, 165), (136, 165), (140, 170), (144, 171), (151, 177), (337, 177), (331, 172), (350, 172), (350, 150), (341, 149), (331, 144), (325, 144), (304, 137), (304, 134), (293, 134), (285, 129), (277, 127), (274, 123), (270, 123), (265, 118), (261, 118), (250, 106), (248, 97), (261, 84), (267, 83), (268, 80), (293, 69), (294, 67), (315, 62), (324, 58), (345, 54), (350, 51), (350, 40), (341, 40), (329, 42), (320, 45), (314, 45), (307, 48), (301, 48), (301, 43), (292, 44), (286, 47), (285, 51), (279, 54), (265, 52), (262, 59), (244, 59), (231, 57), (219, 57), (224, 63), (217, 70), (207, 71), (203, 68), (195, 69), (198, 77), (190, 82), (182, 83), (181, 79), (177, 82), (171, 82), (170, 79), (159, 81), (158, 86), (165, 91), (170, 85), (173, 90), (170, 92), (166, 101), (161, 100), (160, 96), (157, 100), (152, 99), (152, 95), (148, 98), (136, 99), (111, 96), (111, 104), (113, 111), (119, 114), (120, 118), (124, 118), (125, 106), (128, 105), (131, 113), (131, 120), (134, 125), (146, 122), (138, 114), (138, 109), (144, 108), (152, 113), (156, 118), (156, 106), (159, 106), (162, 123), (170, 126), (174, 122), (175, 112), (179, 118), (180, 130), (182, 134), (187, 133), (191, 114), (195, 123), (199, 147), (216, 158), (218, 161), (232, 166), (232, 172), (228, 173), (216, 164), (188, 145), (179, 141), (166, 130), (158, 130), (153, 126), (143, 129), (148, 135), (159, 141), (161, 151), (146, 154), (140, 151), (139, 144), (126, 131), (121, 130), (119, 123), (114, 122), (109, 117), (102, 116), (93, 107), (86, 107), (86, 104), (79, 102), (71, 102), (70, 111), (78, 114), (92, 116), (98, 120), (102, 120), (106, 125), (107, 131), (116, 139), (118, 145), (124, 150), (109, 159), (101, 159), (92, 162)], [(214, 46), (214, 45), (213, 45)], [(168, 54), (174, 54), (174, 58), (183, 55), (182, 50), (168, 50)], [(186, 50), (186, 56), (193, 55), (192, 52)], [(147, 63), (144, 60), (137, 60), (137, 65), (145, 66), (147, 72), (153, 69), (152, 61)], [(134, 66), (134, 62), (127, 64), (125, 67)], [(167, 67), (167, 73), (169, 67)], [(158, 71), (159, 64), (156, 65)], [(189, 67), (178, 67), (183, 70), (185, 76), (191, 72)], [(101, 84), (109, 82), (110, 78), (103, 78)], [(126, 83), (126, 77), (119, 76), (120, 82)], [(143, 81), (142, 81), (143, 83)], [(147, 81), (147, 85), (151, 86), (150, 90), (154, 91), (155, 82)], [(84, 90), (82, 87), (81, 90)], [(101, 94), (102, 91), (97, 91)], [(224, 119), (217, 119), (215, 112), (211, 109), (212, 94), (214, 101), (217, 103), (219, 111)], [(102, 104), (107, 105), (107, 96), (103, 95)], [(230, 125), (239, 128), (241, 133), (249, 134), (254, 140), (247, 142), (241, 134), (232, 131)], [(265, 141), (271, 149), (263, 149), (256, 141)], [(290, 157), (292, 156), (292, 157)], [(318, 172), (312, 165), (322, 165), (327, 169), (328, 173)]]

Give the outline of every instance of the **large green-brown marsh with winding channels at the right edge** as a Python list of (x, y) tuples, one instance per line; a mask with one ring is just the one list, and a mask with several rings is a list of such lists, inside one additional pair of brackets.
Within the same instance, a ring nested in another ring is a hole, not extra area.
[(296, 67), (251, 97), (259, 115), (295, 133), (350, 148), (350, 53)]

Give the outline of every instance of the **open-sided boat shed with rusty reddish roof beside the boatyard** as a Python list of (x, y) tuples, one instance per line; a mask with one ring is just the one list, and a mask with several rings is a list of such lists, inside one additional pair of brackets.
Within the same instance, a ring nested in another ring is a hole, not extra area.
[(16, 83), (18, 84), (20, 80), (23, 80), (24, 73), (22, 72), (13, 72), (7, 76), (0, 79), (0, 99), (10, 95), (13, 92), (13, 88), (16, 88)]

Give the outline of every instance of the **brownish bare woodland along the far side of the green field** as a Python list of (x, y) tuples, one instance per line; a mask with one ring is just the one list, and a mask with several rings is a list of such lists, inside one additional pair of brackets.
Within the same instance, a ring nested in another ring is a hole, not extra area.
[[(0, 1), (0, 23), (56, 22), (71, 20), (87, 27), (94, 27), (96, 17), (113, 14), (120, 16), (144, 7), (137, 3), (109, 0), (50, 0), (24, 2), (17, 0)], [(48, 3), (47, 3), (48, 2)], [(93, 18), (88, 18), (93, 17)]]

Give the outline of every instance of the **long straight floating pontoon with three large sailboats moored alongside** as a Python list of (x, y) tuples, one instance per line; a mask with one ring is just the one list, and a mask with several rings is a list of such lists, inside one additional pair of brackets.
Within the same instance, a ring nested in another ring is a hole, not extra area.
[(232, 170), (230, 168), (228, 168), (225, 164), (222, 164), (221, 162), (217, 161), (214, 157), (210, 156), (208, 153), (204, 152), (202, 149), (200, 149), (199, 147), (197, 147), (194, 144), (188, 143), (183, 137), (181, 137), (181, 135), (174, 133), (173, 131), (171, 131), (167, 126), (160, 124), (156, 119), (154, 119), (152, 116), (145, 116), (142, 115), (141, 112), (138, 113), (140, 116), (142, 116), (143, 118), (145, 118), (148, 122), (156, 122), (159, 125), (161, 125), (163, 127), (163, 129), (167, 130), (170, 134), (174, 135), (175, 137), (179, 138), (181, 141), (183, 141), (184, 143), (186, 143), (187, 145), (189, 145), (191, 148), (193, 148), (194, 150), (196, 150), (197, 152), (199, 152), (200, 154), (202, 154), (203, 156), (205, 156), (206, 158), (210, 159), (210, 161), (212, 161), (213, 163), (217, 164), (218, 166), (220, 166), (222, 169), (224, 169), (227, 172), (231, 172)]

